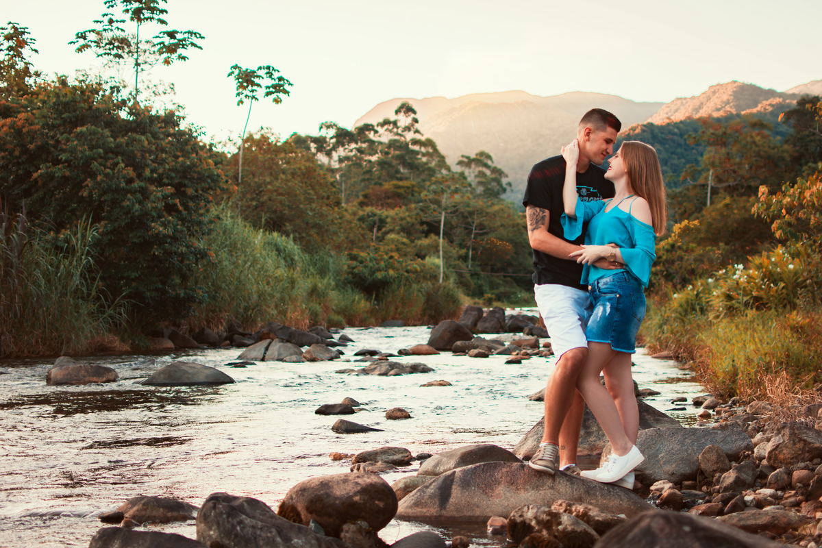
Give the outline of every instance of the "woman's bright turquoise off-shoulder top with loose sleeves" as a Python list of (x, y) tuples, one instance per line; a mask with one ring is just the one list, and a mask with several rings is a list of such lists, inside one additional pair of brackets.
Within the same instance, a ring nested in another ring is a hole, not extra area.
[(628, 270), (640, 280), (642, 287), (648, 287), (651, 265), (657, 258), (654, 252), (657, 235), (653, 233), (651, 225), (631, 215), (630, 209), (623, 211), (619, 205), (615, 205), (611, 210), (606, 211), (605, 206), (610, 201), (582, 201), (577, 196), (576, 218), (572, 219), (562, 214), (561, 223), (567, 239), (573, 240), (580, 237), (582, 225), (587, 222), (589, 224), (588, 231), (585, 233), (585, 245), (617, 244), (622, 261), (626, 266), (624, 269), (605, 270), (593, 265), (584, 265), (581, 283), (592, 283), (621, 270)]

